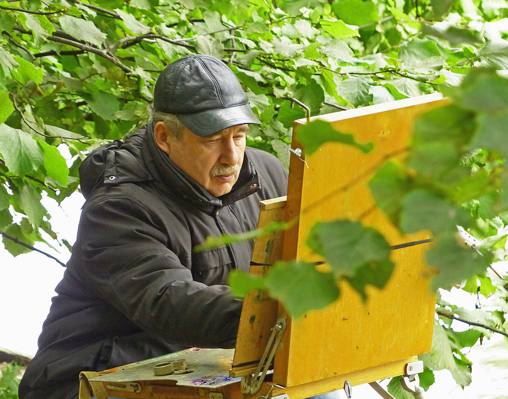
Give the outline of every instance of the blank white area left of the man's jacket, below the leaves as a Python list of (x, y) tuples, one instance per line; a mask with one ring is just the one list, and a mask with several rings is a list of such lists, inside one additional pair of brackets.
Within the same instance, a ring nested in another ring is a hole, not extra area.
[[(81, 194), (73, 194), (63, 201), (64, 211), (55, 201), (43, 200), (43, 204), (49, 208), (54, 231), (70, 243), (76, 240), (83, 201)], [(60, 253), (42, 243), (37, 243), (36, 248), (66, 263), (70, 257), (67, 248), (59, 247), (56, 242), (52, 245)], [(0, 241), (0, 348), (35, 355), (42, 323), (49, 312), (51, 297), (55, 295), (54, 287), (64, 270), (55, 260), (35, 251), (14, 258)]]

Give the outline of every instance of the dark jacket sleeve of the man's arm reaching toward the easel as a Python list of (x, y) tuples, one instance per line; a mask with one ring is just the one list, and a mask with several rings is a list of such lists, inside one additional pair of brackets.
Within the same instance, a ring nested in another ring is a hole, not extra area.
[[(133, 196), (115, 196), (83, 210), (78, 232), (83, 280), (168, 343), (233, 348), (242, 301), (228, 286), (193, 281), (179, 258), (190, 250), (190, 234), (176, 228), (182, 220), (167, 208), (153, 209)], [(186, 241), (188, 248), (182, 248)]]

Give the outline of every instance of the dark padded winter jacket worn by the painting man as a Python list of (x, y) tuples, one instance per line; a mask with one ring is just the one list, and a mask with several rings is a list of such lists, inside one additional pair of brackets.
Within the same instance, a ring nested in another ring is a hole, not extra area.
[(226, 284), (232, 269), (248, 269), (252, 242), (193, 248), (255, 229), (259, 201), (287, 190), (278, 160), (247, 148), (232, 191), (213, 197), (156, 146), (151, 124), (92, 152), (80, 178), (77, 240), (20, 399), (77, 397), (81, 371), (234, 347), (241, 301)]

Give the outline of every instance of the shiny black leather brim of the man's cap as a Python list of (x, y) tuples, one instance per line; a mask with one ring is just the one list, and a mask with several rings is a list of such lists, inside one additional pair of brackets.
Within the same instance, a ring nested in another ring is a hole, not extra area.
[(261, 125), (249, 104), (210, 109), (193, 114), (178, 114), (178, 119), (197, 136), (209, 136), (235, 125)]

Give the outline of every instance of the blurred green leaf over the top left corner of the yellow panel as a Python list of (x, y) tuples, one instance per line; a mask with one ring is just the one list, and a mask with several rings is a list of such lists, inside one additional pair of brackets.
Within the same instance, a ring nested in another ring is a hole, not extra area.
[(320, 119), (300, 126), (298, 129), (298, 140), (305, 147), (307, 155), (314, 154), (321, 145), (327, 142), (353, 145), (365, 153), (373, 148), (372, 143), (358, 143), (352, 134), (338, 132), (329, 122)]

